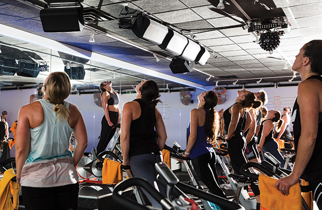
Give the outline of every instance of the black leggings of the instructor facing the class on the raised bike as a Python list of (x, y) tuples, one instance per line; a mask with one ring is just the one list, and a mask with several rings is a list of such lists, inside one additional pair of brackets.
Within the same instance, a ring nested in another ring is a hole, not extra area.
[[(109, 111), (109, 116), (110, 116), (111, 122), (113, 124), (116, 124), (117, 118), (119, 116), (118, 113)], [(108, 144), (110, 143), (110, 141), (113, 138), (115, 131), (116, 131), (116, 128), (112, 128), (109, 125), (108, 120), (106, 120), (106, 118), (105, 118), (105, 115), (102, 118), (101, 124), (102, 124), (101, 137), (99, 139), (99, 142), (98, 142), (97, 148), (96, 148), (97, 155), (106, 149), (106, 146), (108, 146)]]

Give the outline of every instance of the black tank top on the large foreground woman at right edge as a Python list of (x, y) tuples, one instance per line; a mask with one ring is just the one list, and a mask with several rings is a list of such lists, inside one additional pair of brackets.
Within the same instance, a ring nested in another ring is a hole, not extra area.
[[(307, 79), (318, 79), (322, 81), (321, 76), (311, 76)], [(314, 91), (314, 90), (312, 90)], [(294, 146), (295, 146), (295, 151), (297, 151), (297, 146), (298, 146), (298, 140), (299, 136), (301, 133), (301, 124), (300, 124), (300, 113), (299, 113), (299, 106), (297, 103), (297, 98), (294, 103), (293, 107), (293, 112), (292, 115), (294, 114), (296, 110), (296, 115), (295, 115), (295, 120), (293, 124), (293, 132), (294, 132)], [(303, 176), (306, 181), (314, 181), (316, 179), (321, 178), (322, 174), (322, 113), (318, 114), (318, 129), (317, 129), (317, 137), (315, 141), (315, 146), (313, 150), (312, 157), (307, 164)]]

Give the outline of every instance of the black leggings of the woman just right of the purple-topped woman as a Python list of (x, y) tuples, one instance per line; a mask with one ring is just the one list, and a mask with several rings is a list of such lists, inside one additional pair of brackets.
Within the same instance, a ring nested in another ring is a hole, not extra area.
[[(228, 155), (230, 157), (231, 165), (235, 174), (241, 175), (241, 167), (247, 163), (244, 151), (246, 148), (246, 140), (240, 134), (236, 134), (227, 140), (228, 142)], [(250, 188), (255, 196), (260, 195), (259, 186), (253, 182), (250, 184)]]

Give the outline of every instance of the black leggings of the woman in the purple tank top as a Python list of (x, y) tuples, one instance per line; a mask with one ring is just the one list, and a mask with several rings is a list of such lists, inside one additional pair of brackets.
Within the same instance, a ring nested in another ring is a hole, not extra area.
[(209, 191), (222, 198), (227, 198), (218, 184), (218, 176), (215, 168), (216, 154), (206, 153), (192, 159), (192, 165), (201, 181), (208, 187)]

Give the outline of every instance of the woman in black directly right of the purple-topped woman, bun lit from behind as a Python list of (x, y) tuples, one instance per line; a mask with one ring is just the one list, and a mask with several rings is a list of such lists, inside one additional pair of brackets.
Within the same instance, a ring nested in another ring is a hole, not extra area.
[[(243, 130), (246, 124), (246, 115), (249, 115), (251, 108), (256, 109), (262, 106), (260, 100), (256, 100), (253, 92), (245, 89), (237, 91), (238, 96), (235, 103), (224, 111), (224, 128), (225, 139), (228, 143), (228, 154), (235, 174), (241, 174), (240, 169), (242, 165), (247, 162), (244, 155), (246, 149), (246, 139)], [(250, 118), (250, 116), (248, 116)], [(254, 183), (250, 187), (256, 197), (257, 206), (260, 208), (260, 189)]]

